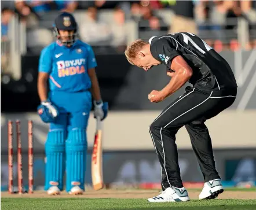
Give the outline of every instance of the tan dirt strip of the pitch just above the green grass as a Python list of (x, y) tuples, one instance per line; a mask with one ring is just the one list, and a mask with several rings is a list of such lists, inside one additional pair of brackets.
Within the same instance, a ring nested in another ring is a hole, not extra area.
[[(34, 194), (8, 194), (8, 192), (1, 192), (2, 198), (144, 198), (157, 196), (159, 190), (87, 190), (85, 194), (81, 196), (72, 196), (65, 191), (60, 196), (48, 196), (45, 191), (35, 191)], [(198, 199), (200, 191), (189, 191), (189, 197), (191, 199)], [(218, 197), (220, 199), (256, 199), (256, 191), (224, 191)]]

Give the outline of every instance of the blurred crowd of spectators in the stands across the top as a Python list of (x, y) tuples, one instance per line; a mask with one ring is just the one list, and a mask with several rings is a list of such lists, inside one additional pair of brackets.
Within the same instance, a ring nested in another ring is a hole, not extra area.
[[(109, 9), (113, 10), (111, 23), (98, 18), (98, 13)], [(161, 9), (170, 10), (170, 20), (161, 16)], [(250, 28), (246, 49), (256, 47), (256, 1), (1, 1), (1, 41), (8, 39), (8, 25), (14, 14), (30, 32), (28, 47), (36, 46), (32, 40), (36, 42), (38, 34), (47, 40), (47, 36), (52, 36), (50, 27), (43, 28), (42, 23), (46, 23), (52, 11), (86, 11), (85, 19), (79, 22), (81, 39), (93, 46), (109, 45), (119, 51), (127, 43), (129, 20), (137, 24), (139, 38), (186, 31), (198, 34), (221, 51), (239, 47), (237, 17), (243, 17)]]

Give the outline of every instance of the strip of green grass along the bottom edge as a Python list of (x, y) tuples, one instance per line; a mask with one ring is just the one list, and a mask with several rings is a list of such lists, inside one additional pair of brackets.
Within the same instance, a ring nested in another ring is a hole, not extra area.
[(255, 200), (192, 200), (188, 202), (150, 203), (145, 199), (117, 198), (1, 198), (2, 210), (13, 209), (177, 209), (246, 210), (256, 209)]

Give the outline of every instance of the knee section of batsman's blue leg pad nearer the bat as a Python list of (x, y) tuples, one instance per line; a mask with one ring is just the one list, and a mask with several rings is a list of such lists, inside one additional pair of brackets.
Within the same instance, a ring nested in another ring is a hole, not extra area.
[(67, 152), (87, 150), (87, 135), (85, 128), (73, 128), (68, 133), (66, 141)]

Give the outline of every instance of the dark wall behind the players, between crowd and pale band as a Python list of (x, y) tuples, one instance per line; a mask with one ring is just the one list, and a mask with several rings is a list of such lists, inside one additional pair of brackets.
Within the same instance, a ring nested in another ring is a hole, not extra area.
[[(255, 51), (224, 51), (221, 55), (229, 62), (239, 82), (238, 96), (231, 109), (242, 105), (247, 109), (255, 109), (256, 83), (253, 82), (256, 79)], [(158, 66), (145, 72), (130, 65), (123, 54), (101, 54), (96, 55), (96, 58), (101, 93), (103, 99), (109, 102), (111, 110), (163, 109), (184, 92), (182, 87), (167, 100), (159, 104), (151, 104), (148, 101), (148, 93), (162, 89), (170, 80), (166, 75), (165, 67)], [(2, 112), (36, 110), (39, 104), (36, 88), (38, 59), (38, 56), (24, 56), (21, 80), (17, 82), (11, 80), (8, 84), (1, 84)]]

